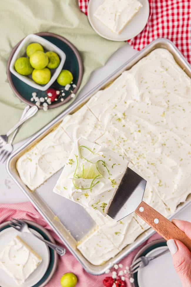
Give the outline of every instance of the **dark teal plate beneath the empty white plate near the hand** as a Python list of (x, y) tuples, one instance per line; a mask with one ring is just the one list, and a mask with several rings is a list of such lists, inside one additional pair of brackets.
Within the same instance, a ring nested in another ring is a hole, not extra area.
[[(147, 245), (143, 246), (143, 248), (141, 248), (139, 250), (139, 252), (137, 253), (137, 255), (135, 256), (135, 258), (133, 259), (133, 261), (135, 261), (137, 258), (139, 258), (140, 256), (145, 256), (147, 255), (147, 253), (149, 253), (151, 250), (157, 248), (157, 247), (161, 247), (161, 246), (167, 246), (166, 244), (166, 240), (165, 239), (158, 239), (155, 240), (151, 243), (148, 243)], [(131, 283), (132, 287), (139, 287), (138, 285), (138, 280), (137, 280), (137, 272), (133, 274), (133, 276), (131, 276), (134, 278), (134, 282)]]

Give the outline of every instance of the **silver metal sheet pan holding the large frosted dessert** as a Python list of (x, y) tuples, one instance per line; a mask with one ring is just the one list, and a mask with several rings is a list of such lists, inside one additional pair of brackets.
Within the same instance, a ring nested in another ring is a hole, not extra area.
[[(154, 230), (150, 228), (147, 231), (143, 232), (135, 240), (134, 243), (126, 246), (114, 258), (111, 258), (103, 265), (93, 265), (88, 260), (86, 260), (86, 258), (84, 258), (80, 251), (77, 249), (77, 241), (81, 240), (85, 235), (91, 232), (91, 230), (96, 226), (96, 224), (82, 206), (68, 199), (65, 199), (64, 197), (60, 197), (58, 194), (52, 192), (53, 187), (61, 174), (61, 171), (58, 171), (44, 184), (38, 187), (34, 192), (31, 192), (31, 190), (26, 187), (26, 185), (21, 181), (19, 177), (18, 171), (16, 170), (16, 161), (22, 154), (24, 154), (28, 149), (30, 149), (44, 136), (46, 136), (46, 134), (48, 134), (53, 128), (55, 128), (62, 121), (63, 117), (66, 114), (74, 113), (82, 105), (84, 105), (98, 90), (104, 89), (111, 82), (113, 82), (113, 80), (115, 80), (124, 70), (130, 69), (140, 59), (142, 59), (151, 51), (157, 48), (167, 49), (173, 55), (177, 64), (187, 73), (189, 77), (191, 77), (191, 67), (189, 63), (177, 50), (174, 44), (167, 39), (156, 39), (147, 47), (145, 47), (141, 52), (131, 58), (128, 62), (125, 62), (112, 75), (105, 78), (105, 80), (103, 80), (99, 85), (93, 88), (89, 93), (76, 101), (76, 103), (74, 103), (70, 108), (68, 108), (57, 118), (51, 121), (51, 123), (45, 126), (29, 141), (27, 141), (18, 150), (16, 150), (7, 161), (6, 167), (9, 175), (14, 179), (16, 184), (21, 188), (24, 194), (28, 197), (28, 199), (32, 202), (32, 204), (36, 207), (40, 214), (45, 218), (45, 220), (49, 223), (49, 225), (56, 232), (58, 237), (60, 237), (66, 247), (82, 264), (83, 268), (93, 275), (102, 274), (105, 272), (105, 270), (110, 268), (111, 265), (119, 262), (128, 253), (134, 250), (138, 245), (148, 239), (154, 233)], [(182, 211), (190, 204), (191, 198), (188, 197), (187, 201), (184, 204), (181, 204), (177, 208), (177, 212), (172, 216), (174, 217), (180, 210)]]

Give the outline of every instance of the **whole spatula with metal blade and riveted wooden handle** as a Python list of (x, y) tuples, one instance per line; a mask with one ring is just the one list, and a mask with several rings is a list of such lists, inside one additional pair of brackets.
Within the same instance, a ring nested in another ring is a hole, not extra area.
[(191, 251), (190, 238), (170, 220), (142, 200), (145, 187), (146, 180), (127, 168), (107, 214), (119, 221), (134, 211), (165, 240), (180, 240)]

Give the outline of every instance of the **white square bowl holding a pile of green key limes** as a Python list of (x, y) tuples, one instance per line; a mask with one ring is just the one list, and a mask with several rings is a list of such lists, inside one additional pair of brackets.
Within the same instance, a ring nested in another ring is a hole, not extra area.
[[(27, 57), (26, 56), (26, 47), (31, 44), (31, 43), (39, 43), (43, 46), (44, 51), (53, 51), (56, 54), (58, 54), (59, 58), (60, 58), (60, 64), (56, 69), (50, 69), (51, 71), (51, 79), (50, 81), (46, 84), (46, 85), (39, 85), (37, 83), (35, 83), (32, 80), (32, 76), (23, 76), (21, 74), (19, 74), (18, 72), (16, 72), (14, 65), (15, 65), (15, 61), (20, 58), (20, 57)], [(59, 49), (56, 45), (52, 44), (51, 42), (49, 42), (48, 40), (37, 36), (35, 34), (29, 34), (28, 36), (26, 36), (23, 41), (21, 42), (21, 44), (19, 45), (19, 47), (17, 48), (17, 50), (15, 51), (10, 66), (9, 66), (9, 70), (11, 71), (11, 73), (13, 75), (15, 75), (16, 77), (18, 77), (21, 81), (23, 81), (24, 83), (26, 83), (27, 85), (36, 88), (38, 90), (41, 91), (46, 91), (56, 80), (56, 78), (58, 77), (58, 75), (60, 74), (62, 67), (64, 65), (64, 62), (66, 60), (66, 54)]]

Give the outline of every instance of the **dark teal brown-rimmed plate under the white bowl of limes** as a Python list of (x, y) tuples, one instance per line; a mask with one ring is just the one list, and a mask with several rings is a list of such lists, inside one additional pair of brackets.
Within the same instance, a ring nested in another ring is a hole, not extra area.
[[(69, 70), (73, 74), (73, 84), (76, 85), (75, 88), (73, 88), (73, 93), (76, 94), (78, 91), (81, 80), (82, 80), (82, 74), (83, 74), (83, 68), (82, 68), (82, 62), (80, 55), (76, 48), (69, 42), (67, 39), (53, 33), (49, 32), (40, 32), (36, 33), (36, 35), (41, 36), (42, 38), (50, 41), (51, 43), (55, 44), (58, 48), (60, 48), (65, 54), (66, 54), (66, 61), (64, 62), (62, 70)], [(15, 75), (13, 75), (10, 70), (10, 62), (11, 59), (18, 48), (19, 44), (22, 42), (22, 40), (16, 44), (14, 49), (11, 52), (11, 55), (9, 56), (8, 62), (7, 62), (7, 77), (9, 84), (14, 91), (15, 95), (24, 103), (27, 105), (33, 106), (35, 105), (34, 102), (31, 102), (32, 93), (36, 92), (38, 96), (45, 96), (46, 91), (40, 91), (38, 89), (35, 89), (23, 81), (21, 81), (19, 78), (17, 78)], [(50, 88), (55, 88), (58, 90), (61, 90), (64, 88), (63, 86), (58, 85), (58, 83), (55, 81), (53, 85), (51, 85)], [(68, 102), (71, 99), (71, 92), (70, 90), (64, 91), (65, 96), (63, 97), (63, 101), (58, 99), (58, 101), (51, 103), (51, 105), (48, 105), (48, 108), (56, 108), (60, 105), (63, 105), (64, 103)], [(43, 108), (41, 105), (39, 108)]]

